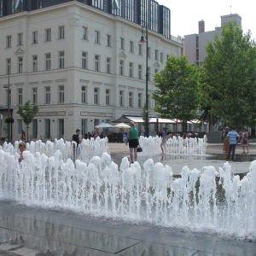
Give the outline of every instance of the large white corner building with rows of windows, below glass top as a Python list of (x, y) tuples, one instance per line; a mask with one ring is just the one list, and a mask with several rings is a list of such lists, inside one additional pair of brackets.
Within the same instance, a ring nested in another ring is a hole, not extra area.
[[(137, 23), (78, 1), (0, 17), (0, 113), (7, 117), (10, 70), (13, 140), (25, 129), (16, 111), (26, 101), (39, 106), (31, 139), (70, 139), (77, 128), (84, 135), (122, 114), (142, 114), (146, 49), (139, 44), (141, 33)], [(148, 30), (148, 47), (151, 94), (154, 73), (168, 55), (180, 55), (183, 44)], [(149, 108), (154, 113), (150, 97)], [(0, 137), (7, 137), (6, 126)]]

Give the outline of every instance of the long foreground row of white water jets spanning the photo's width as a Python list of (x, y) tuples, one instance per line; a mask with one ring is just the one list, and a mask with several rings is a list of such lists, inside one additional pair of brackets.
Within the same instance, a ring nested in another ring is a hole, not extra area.
[(19, 164), (0, 149), (0, 200), (256, 239), (256, 161), (241, 180), (229, 163), (184, 166), (173, 179), (170, 166), (152, 159), (142, 170), (124, 158), (118, 169), (107, 153), (75, 164), (52, 153), (26, 151)]

